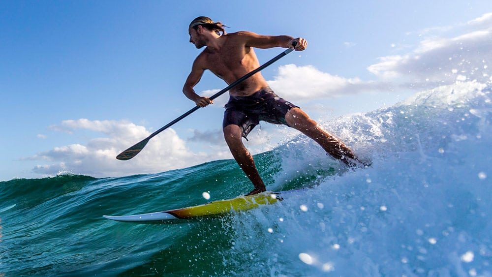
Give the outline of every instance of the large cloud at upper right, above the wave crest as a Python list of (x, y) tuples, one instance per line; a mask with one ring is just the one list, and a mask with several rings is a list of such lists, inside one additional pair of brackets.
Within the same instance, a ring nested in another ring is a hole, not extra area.
[(487, 63), (492, 62), (492, 13), (469, 21), (466, 27), (464, 33), (453, 37), (425, 38), (409, 53), (380, 57), (367, 69), (383, 79), (401, 78), (418, 88), (457, 79), (487, 81)]

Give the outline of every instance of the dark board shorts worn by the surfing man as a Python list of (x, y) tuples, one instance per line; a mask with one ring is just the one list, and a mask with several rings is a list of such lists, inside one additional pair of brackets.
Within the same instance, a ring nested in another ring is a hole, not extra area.
[(242, 136), (246, 136), (260, 123), (266, 121), (274, 124), (287, 125), (285, 114), (292, 109), (299, 108), (278, 97), (270, 87), (262, 88), (249, 96), (230, 96), (225, 105), (222, 128), (234, 124), (241, 127)]

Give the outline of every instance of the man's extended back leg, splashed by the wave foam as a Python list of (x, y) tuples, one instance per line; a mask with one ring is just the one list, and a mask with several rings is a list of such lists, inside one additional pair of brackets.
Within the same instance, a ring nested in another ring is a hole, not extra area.
[(300, 108), (290, 109), (287, 114), (285, 114), (285, 121), (290, 127), (293, 127), (312, 138), (315, 142), (321, 145), (321, 147), (328, 154), (340, 159), (345, 164), (349, 166), (354, 165), (353, 161), (348, 158), (359, 161), (350, 148), (330, 133), (318, 127), (318, 123), (310, 119), (309, 116)]

